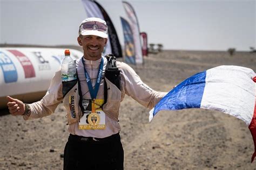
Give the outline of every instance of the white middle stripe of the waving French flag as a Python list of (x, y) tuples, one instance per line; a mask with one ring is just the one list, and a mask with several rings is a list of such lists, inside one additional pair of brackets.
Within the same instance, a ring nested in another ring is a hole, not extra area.
[(218, 110), (250, 125), (255, 105), (255, 76), (251, 69), (219, 66), (206, 71), (201, 108)]

